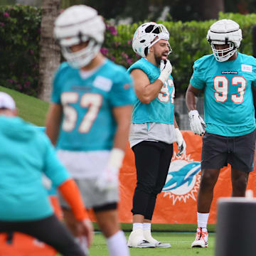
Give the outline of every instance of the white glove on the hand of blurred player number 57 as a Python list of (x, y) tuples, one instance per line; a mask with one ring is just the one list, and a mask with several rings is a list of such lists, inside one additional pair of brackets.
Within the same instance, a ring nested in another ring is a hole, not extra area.
[(107, 166), (97, 178), (96, 186), (100, 191), (117, 189), (119, 185), (119, 169), (114, 166)]

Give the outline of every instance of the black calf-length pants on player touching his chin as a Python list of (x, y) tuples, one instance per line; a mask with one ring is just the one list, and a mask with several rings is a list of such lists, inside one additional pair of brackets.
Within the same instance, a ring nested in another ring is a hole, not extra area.
[(133, 214), (151, 220), (156, 196), (164, 187), (173, 155), (173, 144), (140, 142), (132, 147), (137, 169), (137, 186), (133, 197)]

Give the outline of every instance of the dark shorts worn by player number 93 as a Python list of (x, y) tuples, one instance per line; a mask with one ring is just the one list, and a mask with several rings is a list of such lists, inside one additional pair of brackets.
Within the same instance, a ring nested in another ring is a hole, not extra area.
[(206, 132), (203, 136), (201, 169), (221, 169), (230, 164), (239, 171), (253, 171), (255, 131), (238, 137), (224, 137)]

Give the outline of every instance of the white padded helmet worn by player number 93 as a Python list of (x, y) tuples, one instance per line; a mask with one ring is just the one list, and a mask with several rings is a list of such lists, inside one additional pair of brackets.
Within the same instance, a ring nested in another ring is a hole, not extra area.
[[(223, 62), (228, 60), (239, 48), (242, 41), (242, 31), (238, 23), (229, 19), (223, 19), (213, 23), (207, 33), (207, 41), (213, 50), (215, 59)], [(229, 47), (217, 50), (215, 45), (228, 44)]]

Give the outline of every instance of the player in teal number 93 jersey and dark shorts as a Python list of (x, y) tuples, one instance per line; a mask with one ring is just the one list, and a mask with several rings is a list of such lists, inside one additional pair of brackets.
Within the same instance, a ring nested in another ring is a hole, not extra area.
[[(245, 196), (255, 159), (252, 87), (256, 85), (256, 59), (238, 52), (242, 31), (235, 21), (213, 23), (207, 40), (213, 54), (196, 60), (186, 92), (191, 130), (204, 134), (198, 228), (192, 247), (208, 247), (208, 216), (220, 169), (231, 165), (232, 196)], [(196, 97), (201, 91), (205, 122), (196, 110)]]

